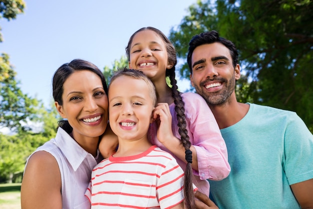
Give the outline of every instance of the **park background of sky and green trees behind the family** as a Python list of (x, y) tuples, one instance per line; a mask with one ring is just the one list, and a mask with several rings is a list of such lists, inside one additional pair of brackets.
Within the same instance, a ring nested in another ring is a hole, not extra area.
[(310, 0), (0, 0), (0, 182), (19, 183), (27, 156), (55, 135), (54, 71), (81, 58), (109, 78), (127, 65), (130, 35), (146, 26), (174, 44), (180, 91), (193, 91), (189, 40), (216, 30), (239, 50), (238, 101), (294, 111), (313, 132), (311, 11)]

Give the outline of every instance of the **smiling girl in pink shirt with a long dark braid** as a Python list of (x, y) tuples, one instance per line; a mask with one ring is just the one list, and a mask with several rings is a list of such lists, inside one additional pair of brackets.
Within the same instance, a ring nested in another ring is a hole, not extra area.
[(198, 94), (177, 91), (176, 52), (162, 32), (141, 28), (130, 37), (125, 50), (129, 68), (142, 71), (155, 86), (155, 111), (165, 113), (160, 123), (150, 126), (152, 144), (172, 153), (185, 176), (192, 167), (192, 182), (208, 195), (206, 179), (221, 180), (230, 171), (226, 146), (211, 110)]

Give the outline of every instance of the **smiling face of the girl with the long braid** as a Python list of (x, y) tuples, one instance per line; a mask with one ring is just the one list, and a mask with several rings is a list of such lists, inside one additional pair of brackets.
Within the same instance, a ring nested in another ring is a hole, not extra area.
[(152, 82), (165, 79), (169, 67), (164, 41), (151, 30), (138, 32), (132, 39), (129, 68), (141, 70)]

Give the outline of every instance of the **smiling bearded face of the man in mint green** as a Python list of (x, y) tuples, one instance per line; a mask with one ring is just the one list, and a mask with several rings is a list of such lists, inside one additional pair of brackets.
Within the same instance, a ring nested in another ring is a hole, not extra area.
[(196, 47), (191, 56), (191, 85), (209, 106), (221, 105), (234, 95), (240, 68), (232, 66), (229, 50), (220, 43)]

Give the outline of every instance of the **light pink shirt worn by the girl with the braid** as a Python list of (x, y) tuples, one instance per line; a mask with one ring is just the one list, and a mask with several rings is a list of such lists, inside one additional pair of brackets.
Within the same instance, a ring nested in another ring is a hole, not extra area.
[[(206, 179), (221, 180), (227, 177), (230, 172), (226, 145), (213, 113), (205, 100), (200, 95), (191, 92), (183, 93), (181, 97), (185, 103), (186, 128), (189, 140), (196, 150), (198, 161), (198, 171), (193, 170), (192, 182), (199, 191), (208, 195), (209, 183)], [(172, 131), (177, 138), (180, 138), (175, 104), (169, 105), (169, 109), (172, 115)], [(149, 140), (171, 153), (157, 140), (156, 131), (156, 123), (152, 123), (148, 134)], [(186, 162), (177, 157), (175, 159), (184, 170)]]

